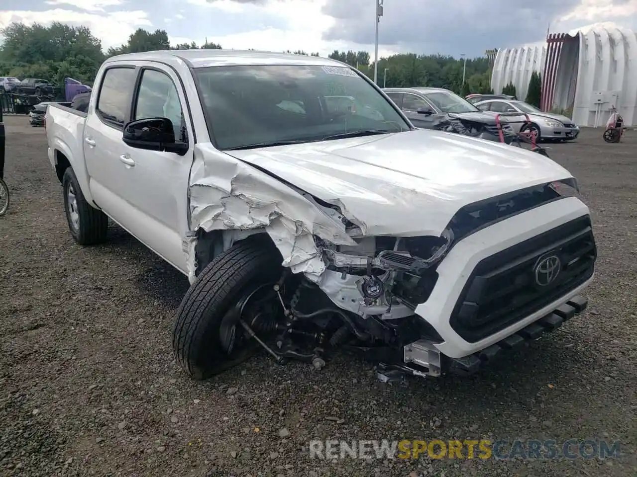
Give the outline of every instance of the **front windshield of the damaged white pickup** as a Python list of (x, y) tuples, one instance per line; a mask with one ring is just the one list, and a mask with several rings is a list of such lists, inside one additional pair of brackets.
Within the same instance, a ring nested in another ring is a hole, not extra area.
[(349, 67), (218, 66), (193, 73), (219, 149), (410, 129)]

